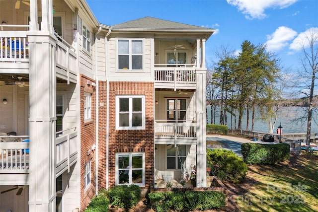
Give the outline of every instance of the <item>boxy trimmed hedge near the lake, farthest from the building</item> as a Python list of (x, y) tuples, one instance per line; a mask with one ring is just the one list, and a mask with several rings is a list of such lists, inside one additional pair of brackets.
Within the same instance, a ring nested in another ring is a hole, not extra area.
[(275, 164), (290, 157), (288, 143), (242, 143), (241, 151), (244, 162), (248, 164)]

